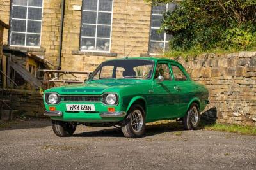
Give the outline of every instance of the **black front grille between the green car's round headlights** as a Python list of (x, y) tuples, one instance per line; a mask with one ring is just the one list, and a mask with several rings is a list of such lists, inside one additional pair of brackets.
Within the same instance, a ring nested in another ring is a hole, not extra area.
[(102, 96), (61, 96), (60, 99), (65, 102), (100, 102)]

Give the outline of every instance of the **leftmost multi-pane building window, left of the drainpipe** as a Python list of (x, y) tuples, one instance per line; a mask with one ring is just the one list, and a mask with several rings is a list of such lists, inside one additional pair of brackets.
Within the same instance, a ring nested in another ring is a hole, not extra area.
[(11, 46), (40, 47), (43, 0), (13, 0)]

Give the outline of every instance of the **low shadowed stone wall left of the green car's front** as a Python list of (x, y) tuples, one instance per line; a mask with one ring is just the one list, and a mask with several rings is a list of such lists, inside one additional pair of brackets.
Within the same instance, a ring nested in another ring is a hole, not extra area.
[(8, 93), (12, 93), (11, 107), (15, 110), (15, 113), (37, 117), (43, 116), (45, 107), (40, 92), (13, 89)]

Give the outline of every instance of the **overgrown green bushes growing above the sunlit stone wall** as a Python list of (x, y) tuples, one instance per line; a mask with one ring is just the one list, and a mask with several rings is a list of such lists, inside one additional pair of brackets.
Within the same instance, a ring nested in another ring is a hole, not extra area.
[(161, 31), (173, 35), (169, 55), (255, 48), (256, 0), (182, 0), (178, 6), (163, 15)]

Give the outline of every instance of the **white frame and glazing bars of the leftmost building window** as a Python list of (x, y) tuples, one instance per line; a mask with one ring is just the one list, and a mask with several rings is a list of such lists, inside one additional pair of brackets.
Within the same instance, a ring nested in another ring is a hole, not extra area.
[[(27, 1), (27, 5), (19, 5), (19, 4), (13, 4), (13, 0), (11, 1), (10, 4), (10, 25), (12, 25), (12, 20), (25, 20), (26, 21), (26, 27), (25, 27), (25, 32), (19, 32), (19, 31), (12, 31), (12, 28), (8, 32), (8, 44), (13, 47), (25, 47), (25, 48), (41, 48), (41, 43), (42, 43), (42, 25), (43, 25), (43, 14), (44, 14), (44, 0), (42, 0), (42, 6), (29, 6), (29, 0)], [(19, 6), (19, 7), (26, 7), (26, 19), (21, 19), (21, 18), (13, 18), (12, 17), (12, 11), (13, 11), (13, 6)], [(31, 20), (28, 19), (28, 9), (29, 8), (41, 8), (42, 13), (41, 13), (41, 20)], [(41, 27), (40, 27), (40, 33), (35, 33), (35, 32), (28, 32), (28, 21), (36, 21), (36, 22), (41, 22)], [(25, 39), (24, 39), (24, 45), (12, 45), (12, 33), (17, 33), (17, 34), (25, 34)], [(29, 46), (26, 45), (27, 41), (27, 34), (33, 34), (33, 35), (40, 35), (40, 41), (38, 46)]]

